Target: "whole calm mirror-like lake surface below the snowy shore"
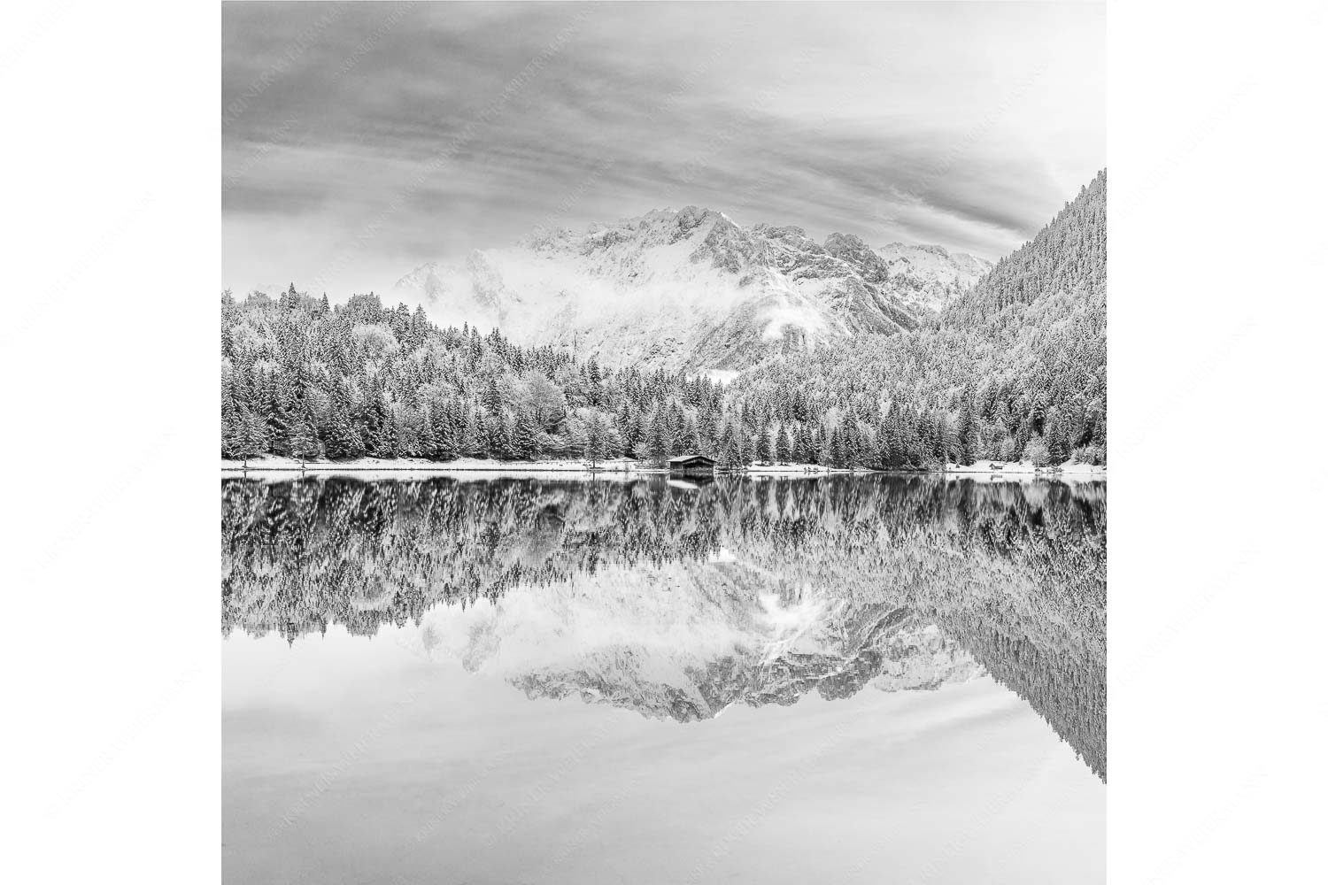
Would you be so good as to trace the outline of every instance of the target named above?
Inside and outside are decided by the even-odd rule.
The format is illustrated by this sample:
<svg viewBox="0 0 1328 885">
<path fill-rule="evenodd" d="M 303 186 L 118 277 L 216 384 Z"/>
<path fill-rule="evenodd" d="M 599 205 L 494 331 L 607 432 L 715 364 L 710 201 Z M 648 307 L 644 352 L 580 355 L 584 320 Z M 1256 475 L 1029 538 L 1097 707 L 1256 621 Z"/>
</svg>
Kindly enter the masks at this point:
<svg viewBox="0 0 1328 885">
<path fill-rule="evenodd" d="M 1106 486 L 222 482 L 227 882 L 1105 880 Z"/>
</svg>

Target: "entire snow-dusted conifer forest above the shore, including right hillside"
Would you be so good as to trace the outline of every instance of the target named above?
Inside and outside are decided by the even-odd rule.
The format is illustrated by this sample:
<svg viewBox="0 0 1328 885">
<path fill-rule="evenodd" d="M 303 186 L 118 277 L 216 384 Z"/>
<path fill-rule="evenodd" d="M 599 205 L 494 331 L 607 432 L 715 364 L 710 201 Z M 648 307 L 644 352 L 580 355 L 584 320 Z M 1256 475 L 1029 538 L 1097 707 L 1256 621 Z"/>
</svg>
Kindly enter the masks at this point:
<svg viewBox="0 0 1328 885">
<path fill-rule="evenodd" d="M 1106 458 L 1106 172 L 919 329 L 729 383 L 600 366 L 372 293 L 222 295 L 222 456 L 928 468 Z"/>
</svg>

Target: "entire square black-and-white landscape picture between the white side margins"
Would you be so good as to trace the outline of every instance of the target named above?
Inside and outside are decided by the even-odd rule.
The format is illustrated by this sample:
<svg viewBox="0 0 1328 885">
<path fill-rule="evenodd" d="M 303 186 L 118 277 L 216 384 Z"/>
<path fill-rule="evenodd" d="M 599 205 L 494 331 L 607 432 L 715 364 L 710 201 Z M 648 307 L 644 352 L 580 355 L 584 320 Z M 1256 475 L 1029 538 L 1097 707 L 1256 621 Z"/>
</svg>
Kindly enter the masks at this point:
<svg viewBox="0 0 1328 885">
<path fill-rule="evenodd" d="M 1100 5 L 222 25 L 223 881 L 1104 881 Z"/>
</svg>

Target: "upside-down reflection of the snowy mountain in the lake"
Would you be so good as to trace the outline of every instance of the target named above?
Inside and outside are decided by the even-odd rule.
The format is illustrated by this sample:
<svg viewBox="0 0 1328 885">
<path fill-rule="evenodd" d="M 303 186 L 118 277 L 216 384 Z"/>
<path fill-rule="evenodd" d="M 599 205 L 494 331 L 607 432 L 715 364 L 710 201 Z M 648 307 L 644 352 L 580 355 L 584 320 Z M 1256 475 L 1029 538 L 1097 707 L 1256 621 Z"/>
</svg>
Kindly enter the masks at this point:
<svg viewBox="0 0 1328 885">
<path fill-rule="evenodd" d="M 817 691 L 931 690 L 985 671 L 935 625 L 884 602 L 772 588 L 742 561 L 611 565 L 430 612 L 421 642 L 531 698 L 580 697 L 680 722 Z"/>
</svg>

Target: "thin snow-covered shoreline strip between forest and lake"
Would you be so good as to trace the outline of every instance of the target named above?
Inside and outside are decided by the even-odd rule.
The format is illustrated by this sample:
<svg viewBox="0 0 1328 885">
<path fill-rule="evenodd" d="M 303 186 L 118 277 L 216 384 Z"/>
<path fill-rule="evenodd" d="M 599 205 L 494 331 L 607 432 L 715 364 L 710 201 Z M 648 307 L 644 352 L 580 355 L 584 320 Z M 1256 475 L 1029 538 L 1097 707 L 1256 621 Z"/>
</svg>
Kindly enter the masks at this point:
<svg viewBox="0 0 1328 885">
<path fill-rule="evenodd" d="M 345 462 L 305 462 L 295 458 L 268 456 L 250 459 L 247 466 L 239 460 L 222 459 L 223 474 L 505 474 L 518 476 L 539 476 L 550 474 L 576 474 L 600 479 L 628 479 L 636 476 L 668 476 L 663 467 L 622 467 L 610 464 L 591 468 L 583 460 L 511 460 L 494 462 L 478 458 L 457 460 L 424 460 L 421 458 L 356 458 Z M 829 476 L 829 475 L 872 475 L 891 476 L 954 476 L 960 479 L 1057 479 L 1062 482 L 1105 480 L 1106 467 L 1092 464 L 1062 464 L 1058 468 L 1035 467 L 1031 463 L 976 462 L 969 466 L 947 464 L 946 470 L 847 470 L 823 467 L 821 464 L 761 464 L 744 471 L 722 475 L 746 476 Z M 475 476 L 478 479 L 478 476 Z"/>
</svg>

